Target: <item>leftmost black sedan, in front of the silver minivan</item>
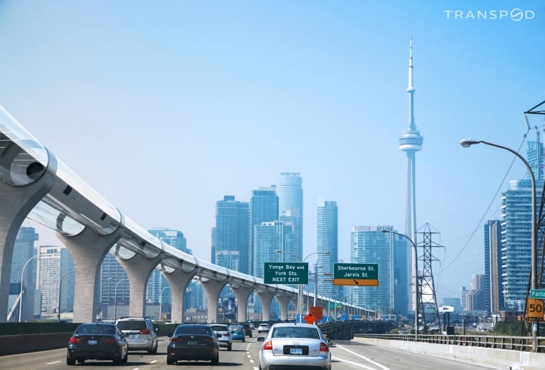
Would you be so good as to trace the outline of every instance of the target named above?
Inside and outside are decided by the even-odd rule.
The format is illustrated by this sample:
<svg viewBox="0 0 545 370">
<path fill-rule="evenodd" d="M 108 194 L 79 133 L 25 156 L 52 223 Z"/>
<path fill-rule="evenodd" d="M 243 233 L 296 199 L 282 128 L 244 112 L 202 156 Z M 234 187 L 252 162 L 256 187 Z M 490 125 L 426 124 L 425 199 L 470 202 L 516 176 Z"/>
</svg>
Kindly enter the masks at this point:
<svg viewBox="0 0 545 370">
<path fill-rule="evenodd" d="M 81 324 L 68 341 L 66 364 L 82 364 L 85 360 L 112 360 L 125 364 L 129 345 L 115 324 Z"/>
</svg>

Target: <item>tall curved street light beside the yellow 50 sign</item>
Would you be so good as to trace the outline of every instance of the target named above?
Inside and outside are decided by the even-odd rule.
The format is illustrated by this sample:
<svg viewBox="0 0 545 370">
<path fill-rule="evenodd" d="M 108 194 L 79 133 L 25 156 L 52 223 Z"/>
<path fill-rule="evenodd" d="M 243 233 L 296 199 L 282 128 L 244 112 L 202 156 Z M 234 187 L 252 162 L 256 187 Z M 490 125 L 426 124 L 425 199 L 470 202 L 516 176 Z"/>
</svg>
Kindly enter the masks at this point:
<svg viewBox="0 0 545 370">
<path fill-rule="evenodd" d="M 494 144 L 493 142 L 487 142 L 484 140 L 473 140 L 473 139 L 464 139 L 460 140 L 460 145 L 465 148 L 469 148 L 472 145 L 475 144 L 484 144 L 484 145 L 490 145 L 491 147 L 497 147 L 500 149 L 504 149 L 507 151 L 510 151 L 515 156 L 517 156 L 521 161 L 523 161 L 524 165 L 528 169 L 528 173 L 530 174 L 530 181 L 532 182 L 532 260 L 530 262 L 530 281 L 531 281 L 531 288 L 536 289 L 537 288 L 537 225 L 535 220 L 535 177 L 534 172 L 532 171 L 532 167 L 530 166 L 530 163 L 525 160 L 521 154 L 518 154 L 517 151 L 504 147 L 503 145 Z M 537 324 L 532 325 L 532 351 L 537 351 Z"/>
</svg>

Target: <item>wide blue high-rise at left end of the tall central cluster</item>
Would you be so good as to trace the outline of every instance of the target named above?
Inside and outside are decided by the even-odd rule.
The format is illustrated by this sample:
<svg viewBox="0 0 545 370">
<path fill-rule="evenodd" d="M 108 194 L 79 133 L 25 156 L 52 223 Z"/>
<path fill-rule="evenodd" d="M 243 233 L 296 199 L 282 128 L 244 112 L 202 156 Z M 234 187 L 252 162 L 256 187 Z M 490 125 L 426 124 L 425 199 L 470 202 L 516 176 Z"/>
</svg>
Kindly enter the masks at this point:
<svg viewBox="0 0 545 370">
<path fill-rule="evenodd" d="M 212 249 L 216 265 L 248 273 L 248 203 L 225 195 L 216 202 Z"/>
</svg>

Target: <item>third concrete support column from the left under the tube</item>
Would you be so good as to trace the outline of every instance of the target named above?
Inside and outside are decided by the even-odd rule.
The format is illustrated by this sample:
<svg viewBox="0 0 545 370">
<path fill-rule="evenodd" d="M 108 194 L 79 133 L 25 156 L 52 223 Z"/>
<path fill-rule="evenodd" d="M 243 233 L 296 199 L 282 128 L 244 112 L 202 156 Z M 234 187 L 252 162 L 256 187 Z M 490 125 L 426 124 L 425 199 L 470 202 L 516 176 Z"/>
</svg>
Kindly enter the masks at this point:
<svg viewBox="0 0 545 370">
<path fill-rule="evenodd" d="M 116 259 L 129 277 L 129 316 L 146 316 L 147 281 L 150 279 L 152 271 L 161 262 L 162 256 L 148 259 L 136 254 L 128 260 L 119 257 Z"/>
</svg>

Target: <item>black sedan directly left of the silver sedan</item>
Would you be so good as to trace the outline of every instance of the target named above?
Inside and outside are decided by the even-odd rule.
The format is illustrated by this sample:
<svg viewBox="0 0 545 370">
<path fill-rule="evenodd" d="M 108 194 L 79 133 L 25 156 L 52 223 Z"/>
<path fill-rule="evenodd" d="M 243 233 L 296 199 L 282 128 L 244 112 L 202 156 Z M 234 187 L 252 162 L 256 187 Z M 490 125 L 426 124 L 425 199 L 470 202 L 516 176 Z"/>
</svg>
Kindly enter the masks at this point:
<svg viewBox="0 0 545 370">
<path fill-rule="evenodd" d="M 221 334 L 217 334 L 221 336 Z M 210 361 L 219 363 L 219 342 L 210 325 L 182 324 L 176 327 L 166 347 L 166 363 L 180 360 Z"/>
</svg>

